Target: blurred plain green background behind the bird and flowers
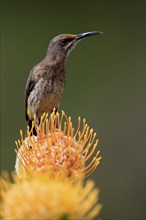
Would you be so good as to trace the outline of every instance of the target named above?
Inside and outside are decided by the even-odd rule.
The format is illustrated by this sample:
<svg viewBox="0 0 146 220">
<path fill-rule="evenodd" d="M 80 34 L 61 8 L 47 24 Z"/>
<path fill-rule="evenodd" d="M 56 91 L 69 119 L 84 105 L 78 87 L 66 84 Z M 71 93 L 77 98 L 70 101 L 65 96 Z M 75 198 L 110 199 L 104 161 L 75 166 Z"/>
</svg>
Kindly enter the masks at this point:
<svg viewBox="0 0 146 220">
<path fill-rule="evenodd" d="M 91 178 L 105 220 L 145 219 L 145 1 L 1 1 L 1 169 L 13 171 L 24 87 L 52 37 L 99 30 L 67 64 L 60 109 L 85 117 L 100 139 Z"/>
</svg>

